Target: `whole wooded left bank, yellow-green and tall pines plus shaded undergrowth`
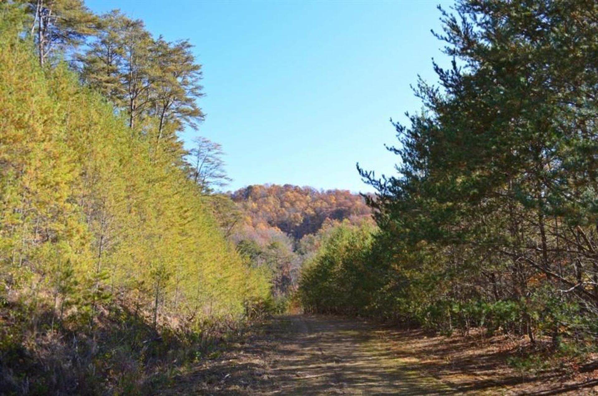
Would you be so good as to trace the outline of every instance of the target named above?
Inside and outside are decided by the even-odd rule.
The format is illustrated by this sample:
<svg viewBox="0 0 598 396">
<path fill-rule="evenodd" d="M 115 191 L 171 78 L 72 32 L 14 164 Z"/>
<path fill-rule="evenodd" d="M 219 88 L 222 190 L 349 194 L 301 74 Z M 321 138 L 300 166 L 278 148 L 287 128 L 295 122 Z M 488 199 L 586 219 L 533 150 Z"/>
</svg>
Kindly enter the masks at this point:
<svg viewBox="0 0 598 396">
<path fill-rule="evenodd" d="M 269 298 L 177 135 L 200 78 L 118 11 L 0 4 L 3 391 L 143 392 Z"/>
</svg>

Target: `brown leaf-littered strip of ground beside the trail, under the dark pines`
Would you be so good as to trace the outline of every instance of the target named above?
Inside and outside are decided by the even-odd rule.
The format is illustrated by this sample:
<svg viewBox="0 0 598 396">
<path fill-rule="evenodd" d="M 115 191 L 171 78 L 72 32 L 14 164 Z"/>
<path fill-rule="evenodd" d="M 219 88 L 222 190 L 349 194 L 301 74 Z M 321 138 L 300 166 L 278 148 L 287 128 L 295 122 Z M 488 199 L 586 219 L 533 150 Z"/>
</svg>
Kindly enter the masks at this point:
<svg viewBox="0 0 598 396">
<path fill-rule="evenodd" d="M 596 355 L 556 357 L 548 340 L 530 344 L 525 337 L 486 337 L 474 329 L 468 336 L 440 336 L 424 330 L 376 331 L 388 349 L 407 364 L 437 377 L 459 394 L 596 394 L 598 370 L 591 370 Z M 535 359 L 527 370 L 511 367 L 509 358 Z M 540 364 L 538 364 L 540 363 Z"/>
</svg>

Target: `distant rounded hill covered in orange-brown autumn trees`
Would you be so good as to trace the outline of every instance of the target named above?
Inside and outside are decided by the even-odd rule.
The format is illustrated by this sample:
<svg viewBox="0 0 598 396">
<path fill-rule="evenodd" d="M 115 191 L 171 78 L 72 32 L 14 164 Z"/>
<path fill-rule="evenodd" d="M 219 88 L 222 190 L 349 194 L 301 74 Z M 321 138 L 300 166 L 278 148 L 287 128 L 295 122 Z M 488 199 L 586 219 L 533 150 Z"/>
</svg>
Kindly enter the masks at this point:
<svg viewBox="0 0 598 396">
<path fill-rule="evenodd" d="M 240 188 L 222 205 L 220 217 L 237 251 L 254 267 L 271 274 L 274 296 L 294 291 L 303 263 L 319 249 L 321 240 L 339 224 L 373 223 L 371 209 L 360 194 L 348 190 L 266 184 Z M 216 215 L 218 217 L 218 215 Z"/>
</svg>

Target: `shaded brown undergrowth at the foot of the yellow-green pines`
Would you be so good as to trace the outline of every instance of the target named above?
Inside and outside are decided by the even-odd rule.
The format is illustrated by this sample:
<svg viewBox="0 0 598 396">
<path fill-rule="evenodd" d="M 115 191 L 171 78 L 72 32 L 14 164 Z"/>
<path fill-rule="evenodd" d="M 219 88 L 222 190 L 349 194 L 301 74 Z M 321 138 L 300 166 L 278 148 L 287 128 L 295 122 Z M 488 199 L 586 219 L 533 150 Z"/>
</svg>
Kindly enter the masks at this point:
<svg viewBox="0 0 598 396">
<path fill-rule="evenodd" d="M 103 307 L 90 325 L 77 315 L 57 321 L 50 306 L 4 300 L 0 394 L 148 394 L 186 366 L 218 357 L 228 342 L 269 314 L 266 303 L 252 305 L 244 316 L 204 319 L 190 331 L 154 328 L 124 305 Z"/>
</svg>

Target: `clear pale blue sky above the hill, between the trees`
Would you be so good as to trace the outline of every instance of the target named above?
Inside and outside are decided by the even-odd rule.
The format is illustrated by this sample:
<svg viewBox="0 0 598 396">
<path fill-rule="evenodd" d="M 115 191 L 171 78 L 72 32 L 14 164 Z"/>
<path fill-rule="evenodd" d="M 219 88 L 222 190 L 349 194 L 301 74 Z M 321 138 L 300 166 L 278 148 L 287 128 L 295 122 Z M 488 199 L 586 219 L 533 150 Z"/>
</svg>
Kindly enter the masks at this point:
<svg viewBox="0 0 598 396">
<path fill-rule="evenodd" d="M 296 184 L 371 191 L 355 163 L 391 175 L 389 123 L 421 108 L 410 84 L 447 65 L 446 1 L 86 0 L 120 8 L 154 36 L 190 39 L 203 65 L 206 120 L 181 137 L 222 144 L 236 190 Z"/>
</svg>

